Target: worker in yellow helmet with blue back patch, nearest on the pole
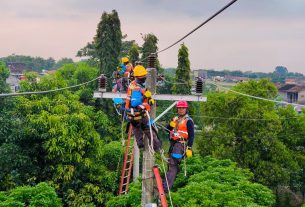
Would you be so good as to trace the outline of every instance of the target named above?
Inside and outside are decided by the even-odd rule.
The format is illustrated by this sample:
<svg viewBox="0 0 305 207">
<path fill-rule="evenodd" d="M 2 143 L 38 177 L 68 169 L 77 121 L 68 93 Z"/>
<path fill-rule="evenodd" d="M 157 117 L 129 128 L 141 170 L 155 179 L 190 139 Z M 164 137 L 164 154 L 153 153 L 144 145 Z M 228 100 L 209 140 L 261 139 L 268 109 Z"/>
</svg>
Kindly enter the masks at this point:
<svg viewBox="0 0 305 207">
<path fill-rule="evenodd" d="M 145 80 L 147 71 L 142 65 L 134 68 L 135 80 L 132 81 L 127 89 L 127 97 L 125 110 L 127 111 L 127 119 L 132 124 L 134 136 L 139 148 L 144 148 L 143 135 L 153 139 L 153 149 L 160 150 L 161 142 L 157 137 L 154 127 L 152 128 L 152 137 L 150 133 L 151 124 L 147 112 L 150 112 L 151 105 L 154 104 L 151 91 L 145 88 Z M 150 143 L 149 142 L 149 143 Z"/>
</svg>

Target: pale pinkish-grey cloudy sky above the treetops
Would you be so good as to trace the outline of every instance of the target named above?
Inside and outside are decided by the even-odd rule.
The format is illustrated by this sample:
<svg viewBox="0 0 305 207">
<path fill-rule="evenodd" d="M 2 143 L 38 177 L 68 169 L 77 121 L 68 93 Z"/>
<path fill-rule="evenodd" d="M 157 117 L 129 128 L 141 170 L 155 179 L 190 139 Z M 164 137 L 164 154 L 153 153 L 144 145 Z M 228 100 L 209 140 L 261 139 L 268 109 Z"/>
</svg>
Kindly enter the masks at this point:
<svg viewBox="0 0 305 207">
<path fill-rule="evenodd" d="M 141 46 L 153 33 L 162 50 L 230 0 L 1 0 L 0 57 L 75 55 L 91 42 L 103 12 L 117 10 L 123 34 Z M 182 42 L 181 42 L 182 43 Z M 272 72 L 285 66 L 305 74 L 305 1 L 238 0 L 183 40 L 192 69 Z M 176 67 L 180 43 L 159 54 Z"/>
</svg>

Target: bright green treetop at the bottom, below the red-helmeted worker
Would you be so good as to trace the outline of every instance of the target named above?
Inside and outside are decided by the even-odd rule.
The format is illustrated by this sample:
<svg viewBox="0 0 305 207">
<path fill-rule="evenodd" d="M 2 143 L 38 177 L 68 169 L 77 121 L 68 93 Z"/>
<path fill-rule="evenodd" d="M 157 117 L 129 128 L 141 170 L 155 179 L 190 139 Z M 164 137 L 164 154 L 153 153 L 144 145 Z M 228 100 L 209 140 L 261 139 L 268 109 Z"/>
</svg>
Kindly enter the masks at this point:
<svg viewBox="0 0 305 207">
<path fill-rule="evenodd" d="M 178 176 L 175 206 L 273 206 L 272 191 L 252 183 L 252 174 L 229 160 L 188 159 L 187 177 Z M 176 188 L 177 189 L 177 188 Z"/>
</svg>

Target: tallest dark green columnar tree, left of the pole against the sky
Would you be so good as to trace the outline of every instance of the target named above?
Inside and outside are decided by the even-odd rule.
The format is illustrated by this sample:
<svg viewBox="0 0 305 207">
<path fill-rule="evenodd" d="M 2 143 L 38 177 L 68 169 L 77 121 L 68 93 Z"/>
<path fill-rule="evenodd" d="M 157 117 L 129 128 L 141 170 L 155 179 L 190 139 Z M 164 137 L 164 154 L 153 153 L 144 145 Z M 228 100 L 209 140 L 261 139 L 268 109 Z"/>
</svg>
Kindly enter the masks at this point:
<svg viewBox="0 0 305 207">
<path fill-rule="evenodd" d="M 118 64 L 122 46 L 121 23 L 117 11 L 102 14 L 94 40 L 100 61 L 100 72 L 110 77 Z"/>
</svg>

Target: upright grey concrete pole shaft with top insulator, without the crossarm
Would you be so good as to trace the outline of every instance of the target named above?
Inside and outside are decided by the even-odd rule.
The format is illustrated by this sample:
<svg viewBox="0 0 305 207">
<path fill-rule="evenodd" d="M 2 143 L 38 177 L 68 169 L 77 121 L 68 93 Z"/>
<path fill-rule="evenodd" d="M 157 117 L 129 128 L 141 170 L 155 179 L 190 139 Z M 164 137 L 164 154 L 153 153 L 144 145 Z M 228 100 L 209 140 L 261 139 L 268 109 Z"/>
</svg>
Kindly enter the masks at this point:
<svg viewBox="0 0 305 207">
<path fill-rule="evenodd" d="M 156 92 L 156 56 L 151 54 L 148 57 L 148 76 L 145 82 L 146 88 L 148 88 L 152 94 Z M 156 105 L 151 106 L 150 117 L 154 119 L 156 117 Z M 152 137 L 151 137 L 152 139 Z M 155 158 L 149 152 L 149 139 L 144 137 L 144 152 L 143 152 L 143 171 L 142 171 L 142 206 L 152 203 L 153 201 L 153 189 L 154 189 L 154 173 L 153 166 L 155 165 Z"/>
</svg>

